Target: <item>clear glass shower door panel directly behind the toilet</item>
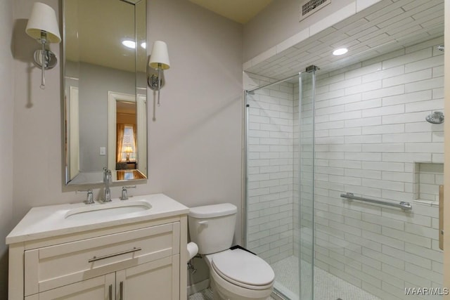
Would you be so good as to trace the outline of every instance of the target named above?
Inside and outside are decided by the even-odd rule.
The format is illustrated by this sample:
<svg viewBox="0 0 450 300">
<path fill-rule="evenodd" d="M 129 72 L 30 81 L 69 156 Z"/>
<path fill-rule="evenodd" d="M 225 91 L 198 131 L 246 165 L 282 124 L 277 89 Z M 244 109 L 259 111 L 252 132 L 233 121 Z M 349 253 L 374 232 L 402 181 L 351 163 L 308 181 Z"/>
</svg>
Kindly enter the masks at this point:
<svg viewBox="0 0 450 300">
<path fill-rule="evenodd" d="M 246 247 L 285 299 L 313 299 L 314 72 L 245 93 Z M 301 221 L 300 221 L 301 220 Z"/>
</svg>

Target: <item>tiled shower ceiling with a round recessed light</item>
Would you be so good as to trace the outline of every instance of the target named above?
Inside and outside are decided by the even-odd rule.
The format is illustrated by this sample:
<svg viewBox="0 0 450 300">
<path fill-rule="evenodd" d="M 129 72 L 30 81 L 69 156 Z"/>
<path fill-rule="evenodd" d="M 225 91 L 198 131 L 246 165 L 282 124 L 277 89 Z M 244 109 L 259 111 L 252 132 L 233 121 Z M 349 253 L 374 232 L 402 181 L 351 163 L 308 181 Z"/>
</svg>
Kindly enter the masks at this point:
<svg viewBox="0 0 450 300">
<path fill-rule="evenodd" d="M 330 72 L 444 35 L 444 0 L 383 0 L 246 72 L 284 79 L 309 65 Z M 345 56 L 333 56 L 345 46 Z"/>
</svg>

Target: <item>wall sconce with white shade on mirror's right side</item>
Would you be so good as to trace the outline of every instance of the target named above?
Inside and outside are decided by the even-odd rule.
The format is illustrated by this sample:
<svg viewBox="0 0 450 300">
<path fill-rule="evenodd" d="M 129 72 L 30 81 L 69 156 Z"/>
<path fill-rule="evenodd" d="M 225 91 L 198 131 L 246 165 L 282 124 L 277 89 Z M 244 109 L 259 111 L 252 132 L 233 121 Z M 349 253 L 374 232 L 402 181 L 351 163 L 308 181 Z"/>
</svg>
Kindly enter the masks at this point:
<svg viewBox="0 0 450 300">
<path fill-rule="evenodd" d="M 151 74 L 148 77 L 148 86 L 153 91 L 158 91 L 158 106 L 160 105 L 160 89 L 162 86 L 162 71 L 170 67 L 169 53 L 167 53 L 167 44 L 164 41 L 155 41 L 153 43 L 152 53 L 150 55 L 150 67 L 158 71 L 157 74 Z"/>
</svg>

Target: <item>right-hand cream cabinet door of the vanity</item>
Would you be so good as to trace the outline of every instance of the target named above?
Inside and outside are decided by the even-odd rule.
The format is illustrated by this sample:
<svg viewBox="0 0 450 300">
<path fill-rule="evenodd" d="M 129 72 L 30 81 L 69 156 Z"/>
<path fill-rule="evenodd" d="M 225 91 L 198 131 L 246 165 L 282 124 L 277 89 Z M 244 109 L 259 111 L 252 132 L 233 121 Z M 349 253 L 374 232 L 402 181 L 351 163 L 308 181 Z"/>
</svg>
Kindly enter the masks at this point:
<svg viewBox="0 0 450 300">
<path fill-rule="evenodd" d="M 179 300 L 179 254 L 117 271 L 116 300 Z"/>
</svg>

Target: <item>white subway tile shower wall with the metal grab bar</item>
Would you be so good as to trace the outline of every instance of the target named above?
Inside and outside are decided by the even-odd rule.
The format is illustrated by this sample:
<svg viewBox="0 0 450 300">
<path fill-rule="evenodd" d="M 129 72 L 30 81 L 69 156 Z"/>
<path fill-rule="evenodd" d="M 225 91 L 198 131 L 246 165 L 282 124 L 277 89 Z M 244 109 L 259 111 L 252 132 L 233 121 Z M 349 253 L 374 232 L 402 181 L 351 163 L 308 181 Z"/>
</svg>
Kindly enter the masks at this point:
<svg viewBox="0 0 450 300">
<path fill-rule="evenodd" d="M 442 43 L 433 39 L 316 81 L 314 263 L 381 299 L 421 299 L 405 288 L 442 287 L 436 200 L 443 124 L 425 121 L 444 109 Z M 411 202 L 413 210 L 341 193 Z"/>
</svg>

